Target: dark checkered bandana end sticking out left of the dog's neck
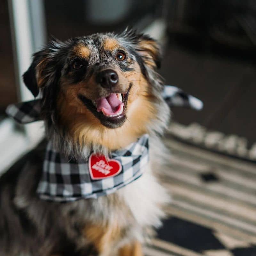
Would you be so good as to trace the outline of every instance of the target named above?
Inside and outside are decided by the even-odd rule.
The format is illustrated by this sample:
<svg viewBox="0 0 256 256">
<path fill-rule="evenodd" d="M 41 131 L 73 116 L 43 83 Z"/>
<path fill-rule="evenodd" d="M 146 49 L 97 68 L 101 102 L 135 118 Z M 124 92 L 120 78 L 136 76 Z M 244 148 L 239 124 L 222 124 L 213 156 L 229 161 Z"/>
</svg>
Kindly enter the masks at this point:
<svg viewBox="0 0 256 256">
<path fill-rule="evenodd" d="M 41 120 L 41 99 L 11 104 L 6 108 L 6 114 L 20 124 L 28 124 Z"/>
</svg>

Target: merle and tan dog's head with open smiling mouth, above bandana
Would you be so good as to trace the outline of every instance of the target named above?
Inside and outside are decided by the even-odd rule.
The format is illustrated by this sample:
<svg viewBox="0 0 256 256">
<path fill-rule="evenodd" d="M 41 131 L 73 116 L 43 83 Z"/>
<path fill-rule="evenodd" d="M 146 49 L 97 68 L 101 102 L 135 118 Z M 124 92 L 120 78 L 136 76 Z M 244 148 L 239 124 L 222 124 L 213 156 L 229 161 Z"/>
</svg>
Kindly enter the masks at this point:
<svg viewBox="0 0 256 256">
<path fill-rule="evenodd" d="M 34 55 L 23 78 L 34 96 L 42 93 L 48 131 L 82 147 L 116 149 L 162 131 L 168 108 L 159 64 L 156 41 L 125 30 L 53 40 Z"/>
</svg>

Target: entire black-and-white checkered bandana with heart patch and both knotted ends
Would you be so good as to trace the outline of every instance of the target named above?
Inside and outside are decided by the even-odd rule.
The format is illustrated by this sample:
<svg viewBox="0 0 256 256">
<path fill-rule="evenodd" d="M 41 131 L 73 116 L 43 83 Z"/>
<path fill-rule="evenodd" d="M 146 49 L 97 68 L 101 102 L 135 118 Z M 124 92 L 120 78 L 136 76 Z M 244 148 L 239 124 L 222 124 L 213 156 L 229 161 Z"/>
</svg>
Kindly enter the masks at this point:
<svg viewBox="0 0 256 256">
<path fill-rule="evenodd" d="M 171 107 L 200 110 L 201 100 L 181 89 L 166 85 L 163 98 Z M 17 122 L 27 124 L 41 120 L 41 99 L 9 105 L 6 113 Z M 148 135 L 111 156 L 91 155 L 88 161 L 64 156 L 49 141 L 43 164 L 43 175 L 37 187 L 41 199 L 57 202 L 108 195 L 138 179 L 148 163 Z"/>
</svg>

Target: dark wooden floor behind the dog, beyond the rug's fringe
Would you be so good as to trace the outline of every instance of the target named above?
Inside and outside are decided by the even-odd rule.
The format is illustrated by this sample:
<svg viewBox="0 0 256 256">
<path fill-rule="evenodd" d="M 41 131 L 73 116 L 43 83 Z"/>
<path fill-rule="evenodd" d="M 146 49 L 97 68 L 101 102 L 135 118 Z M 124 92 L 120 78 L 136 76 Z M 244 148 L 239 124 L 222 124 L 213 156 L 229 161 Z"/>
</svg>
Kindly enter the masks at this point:
<svg viewBox="0 0 256 256">
<path fill-rule="evenodd" d="M 196 48 L 169 39 L 161 74 L 166 84 L 181 87 L 204 101 L 204 109 L 173 109 L 181 124 L 197 122 L 206 128 L 256 141 L 255 56 L 204 45 Z"/>
</svg>

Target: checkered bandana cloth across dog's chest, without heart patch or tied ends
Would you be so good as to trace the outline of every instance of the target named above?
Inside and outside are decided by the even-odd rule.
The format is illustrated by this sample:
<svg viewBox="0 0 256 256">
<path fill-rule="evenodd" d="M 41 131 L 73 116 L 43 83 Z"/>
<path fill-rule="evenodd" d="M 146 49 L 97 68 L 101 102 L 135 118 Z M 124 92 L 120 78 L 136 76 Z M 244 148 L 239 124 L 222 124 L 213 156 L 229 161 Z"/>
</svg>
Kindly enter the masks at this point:
<svg viewBox="0 0 256 256">
<path fill-rule="evenodd" d="M 67 202 L 81 198 L 108 195 L 138 179 L 148 163 L 148 134 L 109 156 L 119 161 L 122 171 L 114 177 L 92 180 L 88 162 L 68 159 L 52 147 L 49 141 L 43 166 L 43 175 L 37 187 L 41 199 Z"/>
</svg>

